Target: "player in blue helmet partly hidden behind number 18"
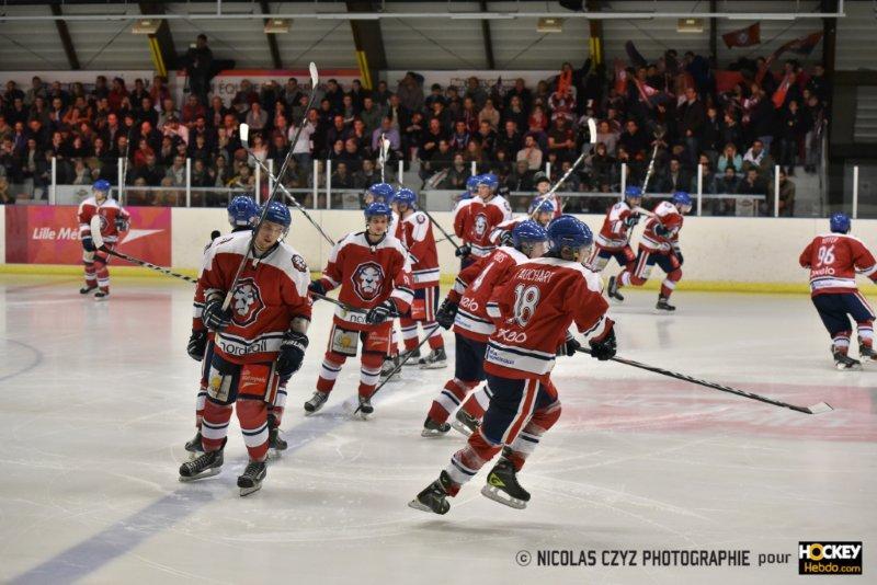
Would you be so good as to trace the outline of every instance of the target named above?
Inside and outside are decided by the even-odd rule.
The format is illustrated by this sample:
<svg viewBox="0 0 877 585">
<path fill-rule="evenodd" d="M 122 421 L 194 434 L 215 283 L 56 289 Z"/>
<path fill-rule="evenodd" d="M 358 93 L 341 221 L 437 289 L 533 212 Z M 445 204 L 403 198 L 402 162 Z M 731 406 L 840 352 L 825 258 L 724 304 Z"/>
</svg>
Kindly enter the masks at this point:
<svg viewBox="0 0 877 585">
<path fill-rule="evenodd" d="M 489 256 L 479 259 L 457 275 L 454 288 L 442 302 L 438 322 L 445 329 L 454 326 L 456 358 L 454 377 L 433 400 L 421 435 L 432 437 L 451 429 L 448 416 L 466 400 L 467 394 L 485 379 L 485 352 L 488 337 L 493 333 L 493 321 L 487 313 L 487 303 L 492 291 L 501 286 L 514 268 L 545 253 L 548 233 L 532 220 L 519 223 L 512 233 L 512 246 L 501 245 Z M 466 409 L 457 410 L 459 428 L 470 434 L 483 411 L 478 402 L 469 402 Z"/>
</svg>

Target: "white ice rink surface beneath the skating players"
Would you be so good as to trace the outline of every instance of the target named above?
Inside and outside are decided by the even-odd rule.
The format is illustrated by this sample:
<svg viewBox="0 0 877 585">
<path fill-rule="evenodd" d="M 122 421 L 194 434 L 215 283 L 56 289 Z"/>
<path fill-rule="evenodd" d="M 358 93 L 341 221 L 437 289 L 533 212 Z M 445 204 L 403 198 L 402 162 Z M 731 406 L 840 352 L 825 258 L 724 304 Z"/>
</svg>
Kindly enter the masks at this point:
<svg viewBox="0 0 877 585">
<path fill-rule="evenodd" d="M 659 316 L 654 292 L 625 289 L 618 355 L 835 411 L 808 416 L 560 358 L 560 422 L 520 474 L 529 507 L 483 497 L 485 469 L 435 516 L 407 503 L 463 445 L 455 432 L 420 437 L 451 367 L 406 368 L 360 421 L 343 405 L 358 379 L 349 362 L 327 408 L 305 418 L 330 322 L 318 302 L 288 387 L 289 450 L 242 498 L 235 417 L 223 473 L 176 479 L 198 378 L 185 354 L 190 285 L 116 278 L 109 302 L 81 298 L 72 277 L 0 285 L 3 582 L 809 583 L 799 540 L 863 540 L 864 577 L 852 582 L 877 571 L 877 364 L 835 371 L 807 296 L 680 292 L 679 311 Z M 600 560 L 616 549 L 747 549 L 753 566 L 537 566 L 540 550 Z M 759 567 L 761 553 L 791 557 Z"/>
</svg>

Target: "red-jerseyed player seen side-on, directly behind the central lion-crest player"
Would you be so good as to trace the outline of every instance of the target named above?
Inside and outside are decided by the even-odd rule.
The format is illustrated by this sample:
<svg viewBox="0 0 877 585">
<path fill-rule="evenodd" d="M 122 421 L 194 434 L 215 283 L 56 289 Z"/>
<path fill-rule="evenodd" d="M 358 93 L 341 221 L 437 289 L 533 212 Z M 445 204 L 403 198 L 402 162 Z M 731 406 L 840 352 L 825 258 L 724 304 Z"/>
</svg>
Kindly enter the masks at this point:
<svg viewBox="0 0 877 585">
<path fill-rule="evenodd" d="M 392 206 L 399 214 L 398 238 L 408 248 L 411 262 L 412 288 L 414 302 L 411 310 L 400 318 L 402 342 L 406 352 L 414 352 L 406 364 L 418 364 L 423 369 L 444 368 L 447 366 L 445 343 L 435 322 L 438 309 L 438 251 L 432 222 L 426 214 L 417 208 L 418 196 L 410 188 L 400 188 L 392 196 Z M 424 333 L 430 333 L 430 353 L 420 357 L 418 349 L 418 323 Z"/>
</svg>

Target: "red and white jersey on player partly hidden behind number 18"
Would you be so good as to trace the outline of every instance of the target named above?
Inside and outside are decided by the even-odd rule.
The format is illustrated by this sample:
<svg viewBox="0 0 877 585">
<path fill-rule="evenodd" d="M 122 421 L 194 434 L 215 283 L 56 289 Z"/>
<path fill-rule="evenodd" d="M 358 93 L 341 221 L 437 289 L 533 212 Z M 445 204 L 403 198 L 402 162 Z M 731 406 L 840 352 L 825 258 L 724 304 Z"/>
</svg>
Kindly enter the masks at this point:
<svg viewBox="0 0 877 585">
<path fill-rule="evenodd" d="M 505 283 L 515 266 L 528 261 L 525 254 L 503 245 L 460 272 L 454 288 L 447 294 L 447 298 L 459 306 L 454 319 L 454 332 L 470 340 L 487 342 L 496 329 L 487 313 L 487 303 L 493 289 Z"/>
</svg>

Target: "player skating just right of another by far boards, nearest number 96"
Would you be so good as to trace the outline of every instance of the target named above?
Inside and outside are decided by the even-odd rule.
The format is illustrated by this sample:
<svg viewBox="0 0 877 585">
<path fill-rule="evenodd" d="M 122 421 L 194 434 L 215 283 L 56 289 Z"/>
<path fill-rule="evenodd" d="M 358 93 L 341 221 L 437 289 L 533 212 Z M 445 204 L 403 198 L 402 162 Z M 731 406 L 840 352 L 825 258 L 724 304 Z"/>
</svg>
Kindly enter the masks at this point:
<svg viewBox="0 0 877 585">
<path fill-rule="evenodd" d="M 633 267 L 625 268 L 617 277 L 611 276 L 608 296 L 624 300 L 618 292 L 623 286 L 642 286 L 651 275 L 656 264 L 667 273 L 667 278 L 661 283 L 661 292 L 658 295 L 656 309 L 661 311 L 675 311 L 670 305 L 670 295 L 676 288 L 676 283 L 682 279 L 682 250 L 679 246 L 679 232 L 682 229 L 683 216 L 691 211 L 692 198 L 687 193 L 677 191 L 670 202 L 661 202 L 654 207 L 654 217 L 646 222 L 642 240 L 639 242 L 639 252 Z"/>
</svg>

